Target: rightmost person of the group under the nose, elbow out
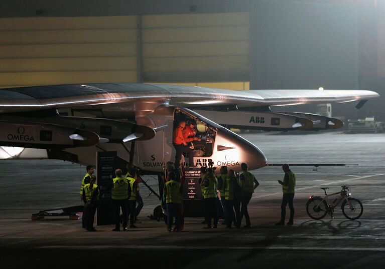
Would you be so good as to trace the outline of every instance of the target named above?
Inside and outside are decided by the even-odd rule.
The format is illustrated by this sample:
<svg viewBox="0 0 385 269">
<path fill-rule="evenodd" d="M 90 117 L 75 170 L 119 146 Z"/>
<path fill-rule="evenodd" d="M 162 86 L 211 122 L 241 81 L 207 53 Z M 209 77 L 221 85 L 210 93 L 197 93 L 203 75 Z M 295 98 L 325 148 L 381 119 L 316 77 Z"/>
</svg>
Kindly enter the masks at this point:
<svg viewBox="0 0 385 269">
<path fill-rule="evenodd" d="M 254 189 L 258 187 L 260 184 L 258 180 L 255 179 L 255 176 L 251 174 L 249 171 L 247 171 L 248 166 L 247 163 L 241 163 L 240 168 L 242 169 L 242 173 L 239 176 L 239 185 L 240 189 L 242 191 L 242 199 L 241 199 L 241 208 L 240 208 L 240 221 L 242 222 L 242 218 L 246 219 L 246 225 L 244 225 L 244 228 L 250 228 L 250 217 L 248 215 L 247 211 L 247 205 L 251 200 L 252 193 L 254 192 Z M 239 223 L 240 225 L 240 223 Z"/>
</svg>

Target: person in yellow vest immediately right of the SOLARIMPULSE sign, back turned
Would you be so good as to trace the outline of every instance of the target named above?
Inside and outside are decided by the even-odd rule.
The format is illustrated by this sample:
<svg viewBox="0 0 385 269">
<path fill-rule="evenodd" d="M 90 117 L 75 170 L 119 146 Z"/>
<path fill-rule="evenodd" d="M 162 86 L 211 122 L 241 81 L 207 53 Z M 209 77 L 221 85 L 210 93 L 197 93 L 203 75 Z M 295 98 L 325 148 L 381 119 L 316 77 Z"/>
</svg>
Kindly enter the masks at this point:
<svg viewBox="0 0 385 269">
<path fill-rule="evenodd" d="M 206 207 L 206 220 L 207 220 L 207 227 L 211 228 L 211 219 L 213 219 L 213 228 L 217 227 L 218 224 L 218 181 L 214 175 L 214 169 L 208 168 L 207 174 L 204 178 L 203 185 L 205 186 L 204 189 L 204 203 Z"/>
</svg>

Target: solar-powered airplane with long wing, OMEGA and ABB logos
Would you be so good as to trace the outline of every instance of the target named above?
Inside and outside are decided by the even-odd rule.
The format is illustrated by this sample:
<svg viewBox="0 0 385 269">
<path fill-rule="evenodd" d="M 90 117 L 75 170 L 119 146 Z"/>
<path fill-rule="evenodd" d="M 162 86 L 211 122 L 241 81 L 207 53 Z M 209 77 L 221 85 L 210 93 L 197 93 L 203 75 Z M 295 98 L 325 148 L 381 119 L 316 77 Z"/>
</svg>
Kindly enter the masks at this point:
<svg viewBox="0 0 385 269">
<path fill-rule="evenodd" d="M 194 166 L 212 161 L 239 170 L 240 163 L 247 162 L 250 169 L 258 169 L 268 164 L 264 153 L 227 128 L 336 129 L 343 125 L 338 119 L 272 112 L 270 107 L 351 101 L 360 101 L 360 107 L 378 96 L 363 90 L 230 91 L 164 84 L 8 88 L 0 90 L 0 159 L 95 165 L 97 151 L 116 151 L 145 173 L 157 174 L 175 159 L 177 122 L 192 119 L 201 138 Z"/>
</svg>

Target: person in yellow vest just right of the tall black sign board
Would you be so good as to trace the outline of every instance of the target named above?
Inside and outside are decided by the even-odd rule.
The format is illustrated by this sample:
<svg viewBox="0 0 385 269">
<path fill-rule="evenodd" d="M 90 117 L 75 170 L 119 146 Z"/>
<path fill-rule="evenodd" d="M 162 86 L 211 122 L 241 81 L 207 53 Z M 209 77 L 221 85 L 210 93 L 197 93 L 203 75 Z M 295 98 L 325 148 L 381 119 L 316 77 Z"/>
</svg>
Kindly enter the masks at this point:
<svg viewBox="0 0 385 269">
<path fill-rule="evenodd" d="M 115 170 L 115 178 L 112 179 L 113 187 L 111 189 L 112 194 L 112 207 L 115 216 L 115 228 L 113 231 L 120 230 L 120 208 L 123 214 L 123 231 L 127 230 L 128 220 L 128 199 L 131 198 L 131 185 L 129 180 L 122 176 L 121 169 Z"/>
</svg>

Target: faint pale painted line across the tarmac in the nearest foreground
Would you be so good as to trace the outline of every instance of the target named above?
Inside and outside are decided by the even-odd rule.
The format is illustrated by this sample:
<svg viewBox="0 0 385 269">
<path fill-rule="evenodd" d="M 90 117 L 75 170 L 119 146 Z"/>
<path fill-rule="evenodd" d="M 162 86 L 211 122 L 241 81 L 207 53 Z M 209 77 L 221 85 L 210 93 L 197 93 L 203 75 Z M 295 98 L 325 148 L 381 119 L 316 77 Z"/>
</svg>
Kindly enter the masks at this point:
<svg viewBox="0 0 385 269">
<path fill-rule="evenodd" d="M 164 250 L 306 250 L 306 251 L 376 251 L 385 247 L 293 247 L 293 246 L 177 246 L 177 245 L 46 245 L 33 249 L 164 249 Z"/>
</svg>

